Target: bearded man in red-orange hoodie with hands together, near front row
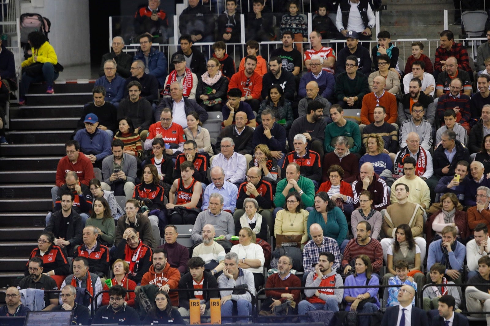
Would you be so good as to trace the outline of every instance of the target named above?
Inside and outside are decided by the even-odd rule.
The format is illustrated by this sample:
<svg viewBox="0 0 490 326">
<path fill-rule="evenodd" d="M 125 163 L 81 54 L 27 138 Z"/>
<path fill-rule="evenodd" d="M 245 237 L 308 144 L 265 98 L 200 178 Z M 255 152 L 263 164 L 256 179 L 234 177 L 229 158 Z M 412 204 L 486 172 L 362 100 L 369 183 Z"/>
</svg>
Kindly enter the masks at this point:
<svg viewBox="0 0 490 326">
<path fill-rule="evenodd" d="M 165 250 L 158 248 L 153 251 L 153 265 L 150 266 L 148 272 L 143 275 L 141 285 L 154 284 L 160 287 L 159 290 L 166 291 L 170 295 L 170 300 L 174 307 L 179 306 L 179 294 L 171 289 L 179 287 L 180 272 L 178 269 L 170 267 L 167 262 L 167 253 Z"/>
</svg>

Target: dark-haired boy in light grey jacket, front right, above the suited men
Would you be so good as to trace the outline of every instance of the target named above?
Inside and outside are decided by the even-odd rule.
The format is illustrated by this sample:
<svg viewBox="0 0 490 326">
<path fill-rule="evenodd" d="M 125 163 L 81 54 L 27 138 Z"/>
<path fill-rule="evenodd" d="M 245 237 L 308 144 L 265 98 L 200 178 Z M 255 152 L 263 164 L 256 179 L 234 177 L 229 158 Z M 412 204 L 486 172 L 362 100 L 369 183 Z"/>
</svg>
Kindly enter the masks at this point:
<svg viewBox="0 0 490 326">
<path fill-rule="evenodd" d="M 456 300 L 456 305 L 454 306 L 454 308 L 455 310 L 457 310 L 457 312 L 461 311 L 458 309 L 461 304 L 461 298 L 458 292 L 458 288 L 455 286 L 444 286 L 444 284 L 454 284 L 454 282 L 452 281 L 448 282 L 447 279 L 444 277 L 445 270 L 446 267 L 441 263 L 435 263 L 430 268 L 429 275 L 432 281 L 431 283 L 434 284 L 434 286 L 426 287 L 424 293 L 422 294 L 423 308 L 425 311 L 437 309 L 439 306 L 439 298 L 441 298 L 445 294 L 452 296 L 454 300 Z"/>
</svg>

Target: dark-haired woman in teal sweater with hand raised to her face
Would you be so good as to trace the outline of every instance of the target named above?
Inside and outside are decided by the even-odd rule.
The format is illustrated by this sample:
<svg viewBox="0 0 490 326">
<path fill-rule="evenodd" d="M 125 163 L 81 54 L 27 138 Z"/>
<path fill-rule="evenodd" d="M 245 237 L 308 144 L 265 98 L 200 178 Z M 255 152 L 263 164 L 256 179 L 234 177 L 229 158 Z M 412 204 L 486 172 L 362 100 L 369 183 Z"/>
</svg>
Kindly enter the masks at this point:
<svg viewBox="0 0 490 326">
<path fill-rule="evenodd" d="M 310 226 L 318 223 L 323 229 L 323 235 L 337 241 L 340 252 L 349 242 L 347 238 L 348 226 L 347 220 L 342 210 L 338 208 L 330 199 L 328 193 L 321 191 L 315 195 L 315 209 L 308 216 L 307 231 L 310 235 Z"/>
</svg>

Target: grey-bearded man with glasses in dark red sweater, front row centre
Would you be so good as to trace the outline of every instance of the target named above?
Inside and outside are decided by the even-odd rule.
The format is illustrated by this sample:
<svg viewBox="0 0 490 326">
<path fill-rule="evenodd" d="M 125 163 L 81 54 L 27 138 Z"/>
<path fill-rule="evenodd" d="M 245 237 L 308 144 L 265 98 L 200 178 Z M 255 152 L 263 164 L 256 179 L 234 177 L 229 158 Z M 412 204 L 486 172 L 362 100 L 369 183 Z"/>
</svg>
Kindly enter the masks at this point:
<svg viewBox="0 0 490 326">
<path fill-rule="evenodd" d="M 294 274 L 291 274 L 292 267 L 293 258 L 290 256 L 279 257 L 279 260 L 277 261 L 278 272 L 267 278 L 266 289 L 282 287 L 286 288 L 286 290 L 266 290 L 267 299 L 264 301 L 259 315 L 268 315 L 270 310 L 273 310 L 274 307 L 286 302 L 288 302 L 289 306 L 291 306 L 291 303 L 293 302 L 295 303 L 294 306 L 298 305 L 299 300 L 301 299 L 300 290 L 291 290 L 290 288 L 300 287 L 301 280 Z M 293 309 L 288 310 L 288 313 L 292 312 Z"/>
</svg>

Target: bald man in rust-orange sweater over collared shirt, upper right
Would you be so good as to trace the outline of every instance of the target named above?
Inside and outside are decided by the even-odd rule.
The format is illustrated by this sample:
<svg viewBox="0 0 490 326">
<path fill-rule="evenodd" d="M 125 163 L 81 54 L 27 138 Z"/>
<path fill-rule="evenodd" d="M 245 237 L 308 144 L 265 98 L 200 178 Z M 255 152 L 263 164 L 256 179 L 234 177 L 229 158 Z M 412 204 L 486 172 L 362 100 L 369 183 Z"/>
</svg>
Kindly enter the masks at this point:
<svg viewBox="0 0 490 326">
<path fill-rule="evenodd" d="M 398 106 L 396 97 L 392 93 L 385 91 L 386 79 L 383 76 L 374 77 L 372 81 L 372 92 L 363 97 L 363 106 L 361 107 L 361 123 L 368 125 L 374 122 L 374 108 L 384 106 L 386 108 L 385 122 L 396 125 L 398 118 Z M 398 126 L 396 125 L 396 130 Z"/>
</svg>

